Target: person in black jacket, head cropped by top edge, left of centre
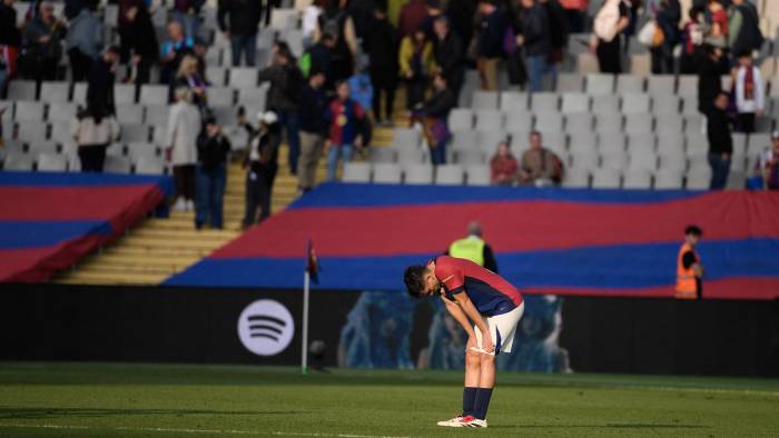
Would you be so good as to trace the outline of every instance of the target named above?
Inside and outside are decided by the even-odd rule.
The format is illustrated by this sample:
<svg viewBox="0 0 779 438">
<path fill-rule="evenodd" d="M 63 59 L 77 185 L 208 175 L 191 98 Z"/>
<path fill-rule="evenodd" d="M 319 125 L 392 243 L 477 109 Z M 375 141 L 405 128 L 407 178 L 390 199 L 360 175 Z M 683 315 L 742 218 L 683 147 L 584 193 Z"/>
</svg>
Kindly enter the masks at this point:
<svg viewBox="0 0 779 438">
<path fill-rule="evenodd" d="M 257 27 L 262 14 L 262 0 L 219 0 L 217 20 L 219 30 L 230 40 L 233 67 L 240 66 L 241 53 L 247 66 L 256 64 Z M 229 22 L 226 20 L 227 16 Z"/>
</svg>

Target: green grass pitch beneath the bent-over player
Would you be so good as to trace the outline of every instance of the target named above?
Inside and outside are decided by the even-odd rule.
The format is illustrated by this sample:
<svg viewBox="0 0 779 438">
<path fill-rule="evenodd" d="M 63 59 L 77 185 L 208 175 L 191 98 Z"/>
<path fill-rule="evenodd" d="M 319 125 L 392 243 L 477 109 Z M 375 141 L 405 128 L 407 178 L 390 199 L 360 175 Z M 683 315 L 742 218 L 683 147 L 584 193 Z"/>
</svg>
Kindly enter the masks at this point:
<svg viewBox="0 0 779 438">
<path fill-rule="evenodd" d="M 462 372 L 0 362 L 0 437 L 779 436 L 779 380 L 499 372 L 490 428 L 450 429 Z"/>
</svg>

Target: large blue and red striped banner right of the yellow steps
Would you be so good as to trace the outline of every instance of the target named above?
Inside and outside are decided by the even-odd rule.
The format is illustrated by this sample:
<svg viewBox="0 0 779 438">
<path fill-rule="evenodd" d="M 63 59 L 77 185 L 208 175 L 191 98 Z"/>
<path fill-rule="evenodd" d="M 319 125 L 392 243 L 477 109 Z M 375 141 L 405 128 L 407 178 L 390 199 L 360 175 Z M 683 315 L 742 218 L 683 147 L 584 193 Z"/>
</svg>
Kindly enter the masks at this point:
<svg viewBox="0 0 779 438">
<path fill-rule="evenodd" d="M 748 191 L 327 183 L 167 283 L 299 288 L 310 238 L 327 266 L 317 288 L 397 290 L 472 220 L 526 292 L 670 297 L 697 223 L 706 297 L 779 297 L 779 195 Z"/>
</svg>

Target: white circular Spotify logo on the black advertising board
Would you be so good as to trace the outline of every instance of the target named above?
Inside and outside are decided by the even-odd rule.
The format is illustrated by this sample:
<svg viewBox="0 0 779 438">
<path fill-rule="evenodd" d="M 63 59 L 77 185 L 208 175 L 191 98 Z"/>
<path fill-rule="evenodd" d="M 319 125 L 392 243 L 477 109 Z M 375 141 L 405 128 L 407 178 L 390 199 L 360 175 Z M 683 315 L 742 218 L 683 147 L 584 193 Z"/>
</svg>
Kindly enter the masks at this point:
<svg viewBox="0 0 779 438">
<path fill-rule="evenodd" d="M 238 337 L 255 355 L 278 355 L 289 346 L 294 335 L 292 313 L 278 301 L 257 300 L 248 305 L 238 318 Z"/>
</svg>

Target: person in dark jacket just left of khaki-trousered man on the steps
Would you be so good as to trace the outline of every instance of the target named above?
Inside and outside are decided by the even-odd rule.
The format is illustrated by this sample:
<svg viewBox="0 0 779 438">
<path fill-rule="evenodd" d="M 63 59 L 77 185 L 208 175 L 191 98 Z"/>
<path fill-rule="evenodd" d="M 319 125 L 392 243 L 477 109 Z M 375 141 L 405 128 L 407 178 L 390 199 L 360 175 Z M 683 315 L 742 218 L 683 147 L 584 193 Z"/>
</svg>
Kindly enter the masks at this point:
<svg viewBox="0 0 779 438">
<path fill-rule="evenodd" d="M 304 84 L 303 73 L 288 50 L 277 50 L 273 64 L 259 71 L 260 82 L 270 82 L 267 108 L 277 117 L 278 125 L 286 128 L 289 142 L 289 171 L 297 173 L 300 155 L 299 120 L 297 100 Z"/>
</svg>

